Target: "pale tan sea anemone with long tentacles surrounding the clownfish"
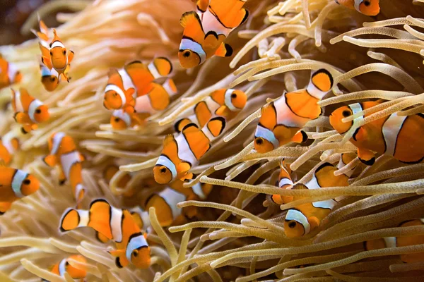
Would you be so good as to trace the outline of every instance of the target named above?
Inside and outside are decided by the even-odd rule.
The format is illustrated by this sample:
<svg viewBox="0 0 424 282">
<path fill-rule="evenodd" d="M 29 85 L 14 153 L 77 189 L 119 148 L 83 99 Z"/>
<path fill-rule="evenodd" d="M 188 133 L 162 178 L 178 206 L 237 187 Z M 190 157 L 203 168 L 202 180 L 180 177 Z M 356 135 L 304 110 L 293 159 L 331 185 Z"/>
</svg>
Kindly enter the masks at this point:
<svg viewBox="0 0 424 282">
<path fill-rule="evenodd" d="M 405 222 L 424 218 L 424 164 L 382 154 L 367 166 L 350 141 L 358 128 L 379 118 L 424 111 L 424 2 L 379 2 L 379 14 L 370 17 L 334 0 L 248 0 L 249 18 L 225 39 L 234 49 L 232 58 L 215 56 L 189 70 L 178 62 L 179 19 L 194 11 L 192 1 L 58 0 L 41 6 L 21 32 L 37 28 L 37 13 L 40 18 L 55 14 L 62 23 L 57 33 L 75 59 L 70 82 L 47 92 L 40 82 L 37 39 L 0 47 L 23 75 L 11 87 L 25 87 L 50 113 L 49 121 L 24 135 L 13 121 L 10 88 L 0 90 L 1 136 L 13 134 L 20 143 L 10 166 L 40 180 L 37 192 L 13 202 L 0 217 L 1 280 L 73 281 L 69 274 L 50 272 L 49 266 L 78 254 L 86 260 L 68 262 L 86 269 L 87 281 L 421 281 L 424 225 Z M 73 13 L 57 13 L 61 9 Z M 172 61 L 178 94 L 143 124 L 114 130 L 112 112 L 102 105 L 108 71 L 158 56 Z M 261 107 L 284 92 L 304 89 L 311 71 L 323 68 L 333 85 L 317 102 L 322 116 L 302 128 L 307 142 L 256 152 Z M 192 208 L 195 216 L 163 227 L 161 211 L 146 207 L 151 195 L 165 188 L 153 179 L 163 140 L 179 117 L 226 88 L 245 92 L 246 105 L 192 166 L 194 178 L 182 184 L 182 190 L 199 183 L 213 190 L 205 200 L 179 202 L 177 207 Z M 335 109 L 377 99 L 384 102 L 343 119 L 354 121 L 343 135 L 331 126 Z M 150 268 L 119 269 L 107 253 L 114 245 L 100 243 L 90 228 L 59 231 L 61 214 L 75 207 L 75 200 L 69 184 L 59 185 L 59 171 L 42 161 L 49 154 L 49 137 L 59 131 L 73 137 L 85 159 L 86 194 L 78 205 L 88 208 L 102 198 L 114 207 L 148 210 Z M 351 162 L 334 175 L 351 171 L 348 185 L 294 188 L 306 185 L 323 164 L 336 165 L 343 154 Z M 293 171 L 294 189 L 275 185 L 282 160 Z M 119 171 L 106 177 L 110 166 Z M 279 205 L 272 195 L 294 200 Z M 288 210 L 328 200 L 336 204 L 318 226 L 298 238 L 286 235 Z M 367 248 L 367 242 L 382 238 L 413 242 Z"/>
</svg>

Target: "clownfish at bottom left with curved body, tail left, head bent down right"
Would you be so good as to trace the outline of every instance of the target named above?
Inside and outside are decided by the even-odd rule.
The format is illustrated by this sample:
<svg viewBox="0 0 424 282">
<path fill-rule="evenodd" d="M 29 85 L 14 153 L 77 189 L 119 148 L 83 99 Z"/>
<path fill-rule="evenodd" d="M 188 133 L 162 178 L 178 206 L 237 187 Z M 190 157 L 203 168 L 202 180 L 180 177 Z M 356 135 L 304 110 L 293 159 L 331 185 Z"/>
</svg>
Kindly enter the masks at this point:
<svg viewBox="0 0 424 282">
<path fill-rule="evenodd" d="M 141 231 L 128 210 L 112 207 L 106 200 L 94 200 L 88 210 L 66 209 L 61 216 L 59 229 L 66 232 L 85 226 L 114 241 L 116 250 L 108 252 L 116 257 L 117 267 L 125 267 L 130 262 L 140 269 L 150 266 L 146 233 Z"/>
</svg>

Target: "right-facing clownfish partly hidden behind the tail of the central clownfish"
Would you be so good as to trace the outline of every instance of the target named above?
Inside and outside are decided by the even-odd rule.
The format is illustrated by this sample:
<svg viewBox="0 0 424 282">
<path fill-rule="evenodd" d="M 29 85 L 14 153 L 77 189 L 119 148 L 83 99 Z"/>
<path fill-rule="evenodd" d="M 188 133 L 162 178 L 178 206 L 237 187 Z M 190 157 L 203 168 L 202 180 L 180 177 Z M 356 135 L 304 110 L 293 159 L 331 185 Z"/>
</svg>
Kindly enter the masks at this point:
<svg viewBox="0 0 424 282">
<path fill-rule="evenodd" d="M 203 128 L 213 116 L 224 116 L 230 121 L 245 107 L 246 102 L 247 96 L 242 90 L 216 90 L 194 106 L 194 115 L 179 119 L 174 125 L 175 131 L 180 133 L 189 123 L 196 123 Z"/>
</svg>

